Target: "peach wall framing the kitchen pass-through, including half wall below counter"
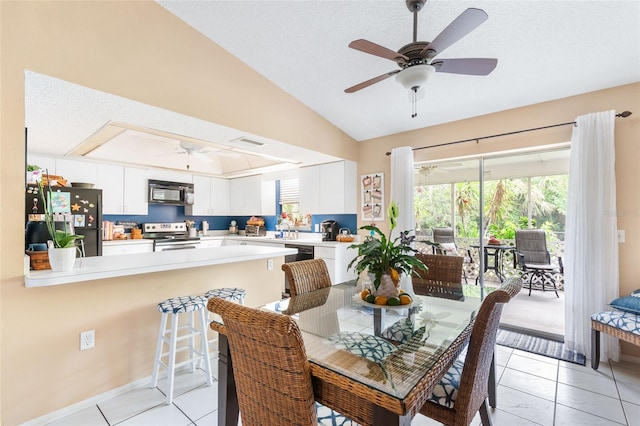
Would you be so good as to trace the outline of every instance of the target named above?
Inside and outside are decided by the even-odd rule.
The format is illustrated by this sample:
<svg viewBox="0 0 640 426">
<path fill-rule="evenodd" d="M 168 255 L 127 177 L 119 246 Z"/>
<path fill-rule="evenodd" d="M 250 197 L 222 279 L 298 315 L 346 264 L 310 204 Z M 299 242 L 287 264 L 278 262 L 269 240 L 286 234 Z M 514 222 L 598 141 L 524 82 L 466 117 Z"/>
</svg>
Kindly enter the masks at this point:
<svg viewBox="0 0 640 426">
<path fill-rule="evenodd" d="M 152 1 L 0 2 L 0 335 L 2 424 L 14 425 L 151 373 L 164 298 L 283 285 L 276 259 L 42 289 L 23 281 L 24 71 L 81 84 L 357 160 L 344 132 Z M 96 330 L 80 352 L 79 333 Z"/>
</svg>

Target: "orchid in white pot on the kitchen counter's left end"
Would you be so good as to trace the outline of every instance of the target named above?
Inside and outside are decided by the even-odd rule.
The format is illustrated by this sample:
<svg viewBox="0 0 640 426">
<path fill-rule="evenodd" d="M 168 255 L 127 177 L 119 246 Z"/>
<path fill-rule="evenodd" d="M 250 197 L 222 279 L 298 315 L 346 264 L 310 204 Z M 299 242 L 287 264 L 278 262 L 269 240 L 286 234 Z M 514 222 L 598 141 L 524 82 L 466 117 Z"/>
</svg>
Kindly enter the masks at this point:
<svg viewBox="0 0 640 426">
<path fill-rule="evenodd" d="M 76 259 L 76 240 L 81 240 L 84 235 L 76 235 L 71 231 L 71 226 L 67 221 L 63 221 L 63 229 L 56 229 L 56 221 L 51 201 L 53 200 L 53 191 L 51 185 L 47 183 L 46 189 L 42 181 L 38 182 L 40 187 L 40 197 L 44 208 L 44 220 L 47 224 L 47 230 L 51 236 L 48 241 L 49 247 L 49 264 L 53 271 L 70 271 Z M 46 190 L 46 195 L 45 195 Z M 48 195 L 48 197 L 47 197 Z"/>
</svg>

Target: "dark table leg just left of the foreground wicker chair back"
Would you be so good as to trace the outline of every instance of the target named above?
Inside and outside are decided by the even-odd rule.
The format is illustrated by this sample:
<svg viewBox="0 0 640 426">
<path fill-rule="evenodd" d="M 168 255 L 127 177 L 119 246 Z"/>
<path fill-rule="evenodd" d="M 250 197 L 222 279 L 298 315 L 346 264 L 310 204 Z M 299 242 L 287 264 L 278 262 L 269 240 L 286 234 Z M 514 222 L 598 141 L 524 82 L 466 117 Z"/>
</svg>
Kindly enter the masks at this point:
<svg viewBox="0 0 640 426">
<path fill-rule="evenodd" d="M 218 424 L 238 425 L 238 394 L 233 377 L 229 342 L 224 334 L 218 335 Z"/>
</svg>

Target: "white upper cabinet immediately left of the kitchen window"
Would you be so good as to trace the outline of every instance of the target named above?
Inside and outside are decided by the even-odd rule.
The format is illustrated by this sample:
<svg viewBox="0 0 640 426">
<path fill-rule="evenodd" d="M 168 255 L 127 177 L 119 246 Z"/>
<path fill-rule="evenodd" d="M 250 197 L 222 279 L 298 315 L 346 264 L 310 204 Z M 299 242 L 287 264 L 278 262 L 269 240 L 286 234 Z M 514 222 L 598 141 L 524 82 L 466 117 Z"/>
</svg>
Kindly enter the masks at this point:
<svg viewBox="0 0 640 426">
<path fill-rule="evenodd" d="M 229 181 L 229 214 L 238 216 L 276 214 L 276 183 L 249 176 Z"/>
</svg>

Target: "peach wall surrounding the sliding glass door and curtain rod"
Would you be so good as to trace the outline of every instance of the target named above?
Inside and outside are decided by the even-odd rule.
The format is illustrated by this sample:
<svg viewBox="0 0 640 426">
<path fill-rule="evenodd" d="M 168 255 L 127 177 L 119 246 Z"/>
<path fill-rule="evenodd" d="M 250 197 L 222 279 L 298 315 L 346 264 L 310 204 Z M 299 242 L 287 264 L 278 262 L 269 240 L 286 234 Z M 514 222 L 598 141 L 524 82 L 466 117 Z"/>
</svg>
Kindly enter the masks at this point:
<svg viewBox="0 0 640 426">
<path fill-rule="evenodd" d="M 638 253 L 640 253 L 640 83 L 620 86 L 552 102 L 512 109 L 495 114 L 447 123 L 439 126 L 395 134 L 361 142 L 358 174 L 384 172 L 385 193 L 390 191 L 390 161 L 385 153 L 394 147 L 422 147 L 474 137 L 502 134 L 521 129 L 571 122 L 579 115 L 596 111 L 633 112 L 616 119 L 616 182 L 618 229 L 626 231 L 626 242 L 619 245 L 620 294 L 638 288 Z M 557 127 L 513 136 L 468 142 L 447 147 L 415 151 L 415 161 L 448 157 L 490 154 L 509 149 L 527 148 L 571 140 L 572 126 Z M 388 202 L 388 200 L 387 200 Z M 400 206 L 402 208 L 402 206 Z M 365 223 L 359 223 L 359 226 Z M 379 224 L 388 229 L 386 224 Z M 640 348 L 623 342 L 623 354 L 639 357 Z"/>
</svg>

